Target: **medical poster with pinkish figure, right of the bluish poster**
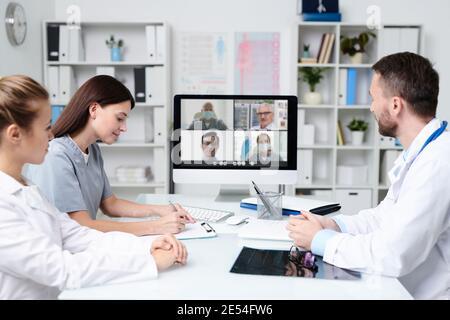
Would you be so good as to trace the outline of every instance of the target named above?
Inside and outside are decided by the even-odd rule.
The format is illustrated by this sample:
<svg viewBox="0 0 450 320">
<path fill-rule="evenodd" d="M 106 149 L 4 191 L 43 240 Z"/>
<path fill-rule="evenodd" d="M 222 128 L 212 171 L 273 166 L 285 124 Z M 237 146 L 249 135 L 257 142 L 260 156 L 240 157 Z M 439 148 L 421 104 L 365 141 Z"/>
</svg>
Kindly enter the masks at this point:
<svg viewBox="0 0 450 320">
<path fill-rule="evenodd" d="M 279 32 L 236 33 L 234 55 L 236 94 L 279 94 Z"/>
</svg>

